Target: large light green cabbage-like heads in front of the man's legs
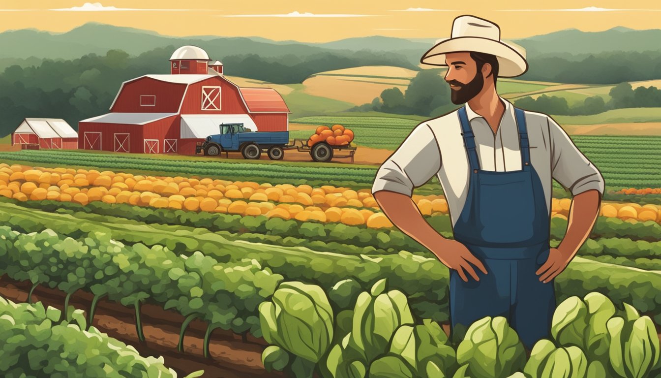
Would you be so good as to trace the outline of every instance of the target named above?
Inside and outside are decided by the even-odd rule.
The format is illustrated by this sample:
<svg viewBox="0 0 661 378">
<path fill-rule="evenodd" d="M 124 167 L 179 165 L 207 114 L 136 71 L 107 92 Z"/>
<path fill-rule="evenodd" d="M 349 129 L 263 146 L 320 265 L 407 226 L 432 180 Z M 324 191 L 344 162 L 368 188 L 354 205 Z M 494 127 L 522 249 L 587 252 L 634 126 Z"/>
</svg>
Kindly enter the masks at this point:
<svg viewBox="0 0 661 378">
<path fill-rule="evenodd" d="M 321 287 L 281 283 L 259 308 L 271 344 L 264 367 L 297 378 L 652 378 L 661 368 L 649 316 L 599 292 L 563 301 L 549 336 L 524 346 L 504 316 L 455 326 L 447 338 L 386 281 L 339 312 Z"/>
</svg>

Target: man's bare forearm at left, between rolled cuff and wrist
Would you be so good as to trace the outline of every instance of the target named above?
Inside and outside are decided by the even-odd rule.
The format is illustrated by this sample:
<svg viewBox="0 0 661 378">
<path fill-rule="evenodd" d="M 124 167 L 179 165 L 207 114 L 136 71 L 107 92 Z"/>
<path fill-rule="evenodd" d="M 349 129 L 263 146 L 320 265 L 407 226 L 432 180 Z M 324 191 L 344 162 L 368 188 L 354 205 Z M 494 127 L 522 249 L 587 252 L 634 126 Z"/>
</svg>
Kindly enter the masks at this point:
<svg viewBox="0 0 661 378">
<path fill-rule="evenodd" d="M 408 195 L 383 190 L 374 193 L 374 199 L 397 228 L 428 250 L 447 240 L 424 219 Z"/>
</svg>

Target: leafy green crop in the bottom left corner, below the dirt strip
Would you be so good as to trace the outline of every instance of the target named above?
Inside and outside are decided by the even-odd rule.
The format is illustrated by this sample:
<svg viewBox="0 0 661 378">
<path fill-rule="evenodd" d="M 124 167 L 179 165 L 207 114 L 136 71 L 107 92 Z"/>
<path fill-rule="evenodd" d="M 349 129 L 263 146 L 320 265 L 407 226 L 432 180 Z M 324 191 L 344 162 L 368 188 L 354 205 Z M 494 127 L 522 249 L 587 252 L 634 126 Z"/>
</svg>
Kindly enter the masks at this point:
<svg viewBox="0 0 661 378">
<path fill-rule="evenodd" d="M 2 231 L 0 231 L 2 232 Z M 176 377 L 163 357 L 142 357 L 132 346 L 87 328 L 83 310 L 61 311 L 42 303 L 0 297 L 0 375 L 3 377 Z M 198 377 L 203 372 L 188 377 Z"/>
</svg>

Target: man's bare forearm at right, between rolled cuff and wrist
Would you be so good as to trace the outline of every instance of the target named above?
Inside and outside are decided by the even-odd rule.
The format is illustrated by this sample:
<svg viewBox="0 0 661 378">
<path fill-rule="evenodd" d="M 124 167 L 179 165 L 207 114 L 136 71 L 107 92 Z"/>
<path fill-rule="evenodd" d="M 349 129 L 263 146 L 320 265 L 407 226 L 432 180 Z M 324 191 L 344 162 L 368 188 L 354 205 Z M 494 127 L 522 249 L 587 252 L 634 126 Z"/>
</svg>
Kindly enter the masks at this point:
<svg viewBox="0 0 661 378">
<path fill-rule="evenodd" d="M 594 223 L 599 216 L 599 208 L 602 202 L 602 195 L 599 191 L 591 189 L 584 191 L 572 200 L 572 205 L 568 216 L 567 231 L 563 241 L 558 249 L 574 256 L 578 248 L 583 245 Z"/>
</svg>

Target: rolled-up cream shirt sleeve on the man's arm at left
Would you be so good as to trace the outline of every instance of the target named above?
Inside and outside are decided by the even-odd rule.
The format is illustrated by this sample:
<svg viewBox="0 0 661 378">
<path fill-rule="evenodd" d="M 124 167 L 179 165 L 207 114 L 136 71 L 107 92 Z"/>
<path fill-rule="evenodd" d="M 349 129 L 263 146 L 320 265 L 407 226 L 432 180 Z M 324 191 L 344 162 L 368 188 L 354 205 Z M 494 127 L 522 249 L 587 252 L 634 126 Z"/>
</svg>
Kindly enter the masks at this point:
<svg viewBox="0 0 661 378">
<path fill-rule="evenodd" d="M 416 126 L 393 154 L 381 164 L 372 193 L 386 190 L 408 195 L 441 169 L 441 154 L 434 132 L 426 123 Z"/>
</svg>

